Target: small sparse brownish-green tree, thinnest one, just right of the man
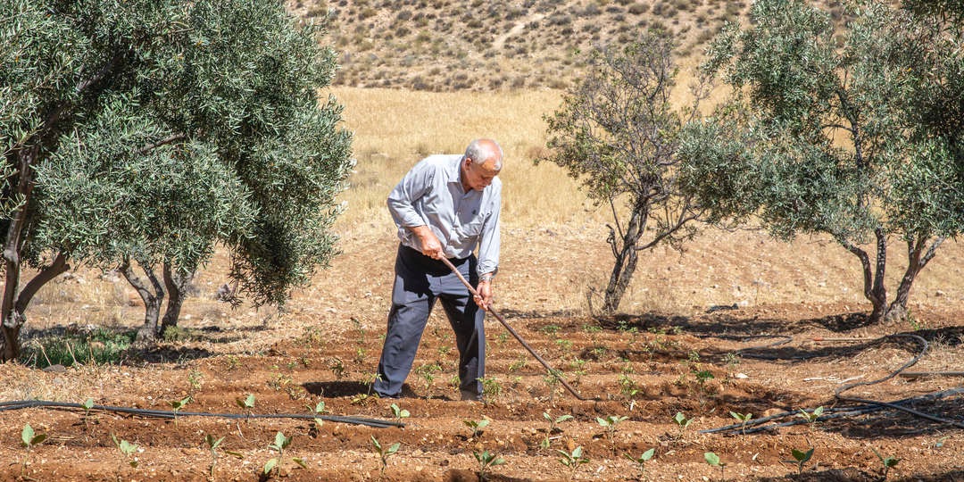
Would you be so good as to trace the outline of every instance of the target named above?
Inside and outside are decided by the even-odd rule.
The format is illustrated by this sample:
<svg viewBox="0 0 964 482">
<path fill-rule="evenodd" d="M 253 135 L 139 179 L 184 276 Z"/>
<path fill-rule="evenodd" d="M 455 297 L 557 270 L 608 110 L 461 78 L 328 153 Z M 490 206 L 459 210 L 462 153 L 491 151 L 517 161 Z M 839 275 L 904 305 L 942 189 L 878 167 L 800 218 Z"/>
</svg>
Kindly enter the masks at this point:
<svg viewBox="0 0 964 482">
<path fill-rule="evenodd" d="M 672 49 L 671 40 L 650 32 L 596 52 L 586 77 L 546 118 L 551 153 L 536 162 L 565 168 L 612 212 L 606 241 L 614 263 L 604 313 L 619 308 L 639 252 L 662 242 L 680 248 L 700 214 L 677 182 L 678 136 L 696 109 L 678 112 L 670 103 L 677 75 Z M 702 95 L 696 92 L 694 104 Z M 644 238 L 647 228 L 652 237 Z"/>
</svg>

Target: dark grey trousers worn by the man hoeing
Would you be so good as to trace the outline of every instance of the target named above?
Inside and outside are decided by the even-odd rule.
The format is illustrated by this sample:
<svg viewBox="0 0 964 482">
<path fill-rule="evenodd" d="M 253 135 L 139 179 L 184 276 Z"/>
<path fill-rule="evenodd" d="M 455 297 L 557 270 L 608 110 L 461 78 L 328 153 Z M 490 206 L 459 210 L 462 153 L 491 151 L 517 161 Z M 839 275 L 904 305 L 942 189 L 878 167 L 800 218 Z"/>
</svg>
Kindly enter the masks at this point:
<svg viewBox="0 0 964 482">
<path fill-rule="evenodd" d="M 472 286 L 478 284 L 475 255 L 450 261 Z M 436 300 L 442 302 L 455 332 L 460 389 L 463 394 L 481 395 L 479 379 L 485 376 L 485 311 L 475 305 L 469 289 L 442 261 L 399 245 L 388 331 L 382 359 L 378 362 L 379 379 L 373 387 L 379 396 L 397 397 L 401 394 L 402 383 L 412 370 L 418 342 Z"/>
</svg>

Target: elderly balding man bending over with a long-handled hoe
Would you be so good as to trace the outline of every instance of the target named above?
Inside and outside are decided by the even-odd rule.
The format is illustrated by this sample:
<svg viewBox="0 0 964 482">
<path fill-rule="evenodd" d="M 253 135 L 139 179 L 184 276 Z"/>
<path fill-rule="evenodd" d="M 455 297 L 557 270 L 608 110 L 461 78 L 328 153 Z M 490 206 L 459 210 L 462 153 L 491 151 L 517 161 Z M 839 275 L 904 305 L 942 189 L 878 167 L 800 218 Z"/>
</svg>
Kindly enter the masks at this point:
<svg viewBox="0 0 964 482">
<path fill-rule="evenodd" d="M 465 155 L 422 159 L 388 195 L 388 210 L 401 243 L 395 258 L 388 333 L 374 384 L 379 396 L 401 395 L 429 313 L 439 300 L 455 331 L 462 399 L 481 399 L 484 310 L 492 302 L 498 267 L 502 184 L 495 176 L 501 169 L 501 147 L 491 139 L 477 139 Z M 476 248 L 477 257 L 472 253 Z M 469 294 L 442 256 L 476 286 L 479 296 Z"/>
</svg>

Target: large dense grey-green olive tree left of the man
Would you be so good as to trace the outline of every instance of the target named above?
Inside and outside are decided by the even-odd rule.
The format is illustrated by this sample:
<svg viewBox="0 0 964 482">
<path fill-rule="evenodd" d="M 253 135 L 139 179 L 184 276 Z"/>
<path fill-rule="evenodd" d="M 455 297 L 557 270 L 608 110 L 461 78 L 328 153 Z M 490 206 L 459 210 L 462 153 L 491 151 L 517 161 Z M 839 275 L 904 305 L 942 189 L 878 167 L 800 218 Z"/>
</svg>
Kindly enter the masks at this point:
<svg viewBox="0 0 964 482">
<path fill-rule="evenodd" d="M 70 260 L 183 280 L 220 244 L 254 303 L 280 305 L 335 254 L 351 138 L 335 99 L 318 98 L 335 72 L 321 27 L 274 0 L 0 12 L 4 360 Z M 25 265 L 38 272 L 21 287 Z"/>
</svg>

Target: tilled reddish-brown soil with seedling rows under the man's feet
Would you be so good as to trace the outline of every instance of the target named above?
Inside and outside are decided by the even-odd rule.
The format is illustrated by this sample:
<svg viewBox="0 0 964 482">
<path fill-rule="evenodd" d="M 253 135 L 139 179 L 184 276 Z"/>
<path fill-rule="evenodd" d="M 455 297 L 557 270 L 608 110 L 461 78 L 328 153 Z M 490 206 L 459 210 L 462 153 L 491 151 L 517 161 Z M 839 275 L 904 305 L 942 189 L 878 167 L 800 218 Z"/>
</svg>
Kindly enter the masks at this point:
<svg viewBox="0 0 964 482">
<path fill-rule="evenodd" d="M 190 340 L 139 351 L 120 364 L 61 372 L 8 363 L 0 366 L 0 395 L 75 403 L 93 397 L 97 404 L 155 410 L 170 410 L 170 401 L 191 395 L 194 401 L 183 411 L 244 414 L 235 400 L 251 393 L 254 414 L 304 415 L 324 401 L 331 415 L 389 421 L 395 403 L 411 413 L 402 420 L 404 428 L 185 415 L 175 423 L 114 412 L 94 412 L 85 420 L 77 410 L 7 411 L 0 416 L 0 455 L 8 466 L 0 480 L 257 480 L 273 457 L 268 445 L 282 432 L 293 439 L 281 472 L 271 478 L 283 480 L 474 481 L 479 464 L 473 453 L 483 450 L 505 460 L 492 469 L 491 480 L 635 480 L 639 470 L 626 454 L 638 457 L 655 448 L 645 466 L 648 480 L 880 480 L 876 450 L 900 459 L 890 480 L 964 481 L 964 432 L 893 410 L 745 435 L 701 433 L 736 423 L 731 412 L 758 418 L 853 405 L 835 399 L 835 389 L 886 377 L 920 353 L 915 339 L 874 341 L 881 336 L 929 341 L 913 370 L 961 370 L 959 245 L 943 249 L 936 266 L 922 274 L 912 306 L 918 330 L 907 323 L 867 325 L 859 314 L 867 306 L 853 294 L 859 279 L 849 263 L 855 261 L 833 246 L 781 245 L 750 233 L 704 235 L 683 256 L 648 254 L 626 302 L 630 314 L 595 318 L 582 308 L 582 292 L 605 276 L 609 258 L 593 230 L 507 229 L 497 285 L 497 308 L 588 401 L 548 384 L 546 370 L 495 320 L 487 327 L 488 372 L 500 393 L 491 390 L 484 404 L 455 400 L 457 391 L 449 385 L 454 342 L 441 312 L 426 330 L 415 367 L 439 363 L 442 371 L 428 382 L 414 372 L 409 396 L 399 400 L 366 396 L 365 380 L 381 350 L 394 241 L 388 230 L 348 233 L 345 254 L 299 291 L 281 316 L 231 310 L 211 300 L 223 281 L 215 268 L 224 261 L 216 261 L 201 276 L 201 294 L 181 321 L 191 330 Z M 71 295 L 85 278 L 94 280 L 85 281 L 86 294 Z M 934 280 L 950 284 L 937 288 Z M 733 290 L 719 287 L 731 282 Z M 61 298 L 41 298 L 28 312 L 34 334 L 106 316 L 98 309 L 115 313 L 108 317 L 120 326 L 137 325 L 138 307 L 110 302 L 111 296 L 127 296 L 120 281 L 80 272 L 49 289 L 59 290 Z M 81 308 L 82 295 L 108 301 Z M 735 309 L 706 312 L 734 303 Z M 960 378 L 895 377 L 844 394 L 897 400 L 955 387 L 961 387 Z M 957 394 L 913 407 L 960 423 L 962 401 Z M 672 419 L 678 412 L 692 418 L 685 430 Z M 544 414 L 574 418 L 550 430 Z M 627 419 L 607 432 L 597 418 L 610 415 Z M 473 436 L 465 422 L 483 419 L 490 423 Z M 794 421 L 803 418 L 788 415 L 772 423 Z M 30 453 L 20 447 L 26 423 L 49 437 Z M 207 434 L 224 437 L 220 448 L 243 458 L 219 450 L 210 476 Z M 139 445 L 136 468 L 126 465 L 112 435 Z M 401 443 L 384 474 L 372 437 L 385 446 Z M 588 462 L 567 469 L 558 450 L 579 446 Z M 788 462 L 791 450 L 810 447 L 816 449 L 813 459 L 798 472 Z M 719 455 L 724 469 L 710 467 L 706 452 Z"/>
</svg>

